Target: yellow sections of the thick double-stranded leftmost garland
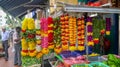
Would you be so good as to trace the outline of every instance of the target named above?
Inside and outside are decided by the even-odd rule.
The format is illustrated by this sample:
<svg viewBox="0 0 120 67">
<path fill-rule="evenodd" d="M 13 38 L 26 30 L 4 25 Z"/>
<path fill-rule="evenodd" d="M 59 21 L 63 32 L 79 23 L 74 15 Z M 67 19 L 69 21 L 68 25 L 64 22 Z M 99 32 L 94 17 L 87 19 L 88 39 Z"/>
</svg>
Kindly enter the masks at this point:
<svg viewBox="0 0 120 67">
<path fill-rule="evenodd" d="M 24 33 L 26 33 L 26 30 L 34 30 L 35 29 L 35 23 L 34 19 L 32 18 L 25 18 L 22 22 L 22 30 Z M 40 31 L 37 31 L 37 34 L 40 34 Z M 25 37 L 21 40 L 22 44 L 22 56 L 35 56 L 36 55 L 36 43 L 34 41 L 30 41 L 27 43 Z M 40 43 L 40 42 L 39 42 Z M 29 50 L 28 50 L 29 49 Z"/>
</svg>

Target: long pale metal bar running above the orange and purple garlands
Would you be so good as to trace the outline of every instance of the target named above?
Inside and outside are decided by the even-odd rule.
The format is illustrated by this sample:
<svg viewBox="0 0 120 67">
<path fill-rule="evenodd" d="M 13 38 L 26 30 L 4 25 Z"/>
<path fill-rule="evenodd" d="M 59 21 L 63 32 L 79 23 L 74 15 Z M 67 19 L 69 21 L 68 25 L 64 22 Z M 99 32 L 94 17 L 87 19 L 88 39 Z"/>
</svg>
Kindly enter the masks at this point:
<svg viewBox="0 0 120 67">
<path fill-rule="evenodd" d="M 95 13 L 120 13 L 120 9 L 101 8 L 101 7 L 83 7 L 83 6 L 65 6 L 66 12 L 95 12 Z"/>
</svg>

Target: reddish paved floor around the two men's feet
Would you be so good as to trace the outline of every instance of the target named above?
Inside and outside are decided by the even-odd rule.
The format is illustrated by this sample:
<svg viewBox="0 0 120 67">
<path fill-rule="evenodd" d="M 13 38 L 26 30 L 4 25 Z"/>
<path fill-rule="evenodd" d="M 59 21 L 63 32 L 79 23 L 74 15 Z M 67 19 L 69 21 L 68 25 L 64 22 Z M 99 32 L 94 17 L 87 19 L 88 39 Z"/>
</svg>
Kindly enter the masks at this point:
<svg viewBox="0 0 120 67">
<path fill-rule="evenodd" d="M 5 61 L 4 57 L 0 57 L 0 67 L 18 67 L 14 66 L 14 53 L 12 52 L 12 47 L 9 48 L 9 59 Z"/>
</svg>

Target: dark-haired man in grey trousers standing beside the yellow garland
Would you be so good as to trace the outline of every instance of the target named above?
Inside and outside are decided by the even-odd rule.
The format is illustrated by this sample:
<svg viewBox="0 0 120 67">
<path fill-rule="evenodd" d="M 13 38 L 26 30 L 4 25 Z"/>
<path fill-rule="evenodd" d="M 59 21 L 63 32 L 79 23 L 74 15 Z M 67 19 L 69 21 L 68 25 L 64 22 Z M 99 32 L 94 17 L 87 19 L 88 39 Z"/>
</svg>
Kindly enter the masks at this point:
<svg viewBox="0 0 120 67">
<path fill-rule="evenodd" d="M 15 32 L 13 34 L 13 43 L 14 43 L 14 49 L 15 49 L 15 55 L 14 55 L 14 65 L 21 66 L 21 28 L 16 27 Z"/>
</svg>

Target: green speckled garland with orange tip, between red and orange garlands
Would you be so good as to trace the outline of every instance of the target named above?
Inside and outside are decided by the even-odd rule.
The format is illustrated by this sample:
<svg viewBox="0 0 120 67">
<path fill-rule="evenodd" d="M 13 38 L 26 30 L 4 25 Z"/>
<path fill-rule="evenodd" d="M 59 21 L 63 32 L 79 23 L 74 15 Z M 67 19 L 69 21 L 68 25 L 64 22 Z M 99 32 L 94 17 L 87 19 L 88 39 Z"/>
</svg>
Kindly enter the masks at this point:
<svg viewBox="0 0 120 67">
<path fill-rule="evenodd" d="M 60 19 L 55 18 L 54 19 L 54 44 L 55 44 L 54 51 L 57 54 L 59 54 L 61 52 L 61 47 L 60 47 L 61 37 L 60 37 L 60 35 L 61 35 Z"/>
</svg>

